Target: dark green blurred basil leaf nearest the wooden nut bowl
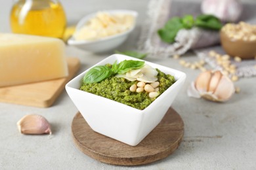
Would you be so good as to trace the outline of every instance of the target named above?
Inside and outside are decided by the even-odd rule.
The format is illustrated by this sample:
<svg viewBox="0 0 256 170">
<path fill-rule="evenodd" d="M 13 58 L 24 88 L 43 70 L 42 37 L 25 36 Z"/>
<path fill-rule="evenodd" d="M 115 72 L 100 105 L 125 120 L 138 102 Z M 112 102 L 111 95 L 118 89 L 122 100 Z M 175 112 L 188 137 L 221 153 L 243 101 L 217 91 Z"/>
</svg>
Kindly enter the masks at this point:
<svg viewBox="0 0 256 170">
<path fill-rule="evenodd" d="M 222 27 L 219 18 L 213 15 L 202 14 L 196 18 L 195 25 L 204 29 L 219 30 Z"/>
</svg>

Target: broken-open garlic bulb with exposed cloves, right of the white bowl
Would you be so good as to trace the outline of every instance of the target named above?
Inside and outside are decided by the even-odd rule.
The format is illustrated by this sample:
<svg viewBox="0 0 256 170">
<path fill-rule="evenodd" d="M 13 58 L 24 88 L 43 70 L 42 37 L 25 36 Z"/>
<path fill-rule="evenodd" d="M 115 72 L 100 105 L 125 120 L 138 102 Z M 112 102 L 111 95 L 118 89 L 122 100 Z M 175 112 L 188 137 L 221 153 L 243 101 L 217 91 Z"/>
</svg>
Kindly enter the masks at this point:
<svg viewBox="0 0 256 170">
<path fill-rule="evenodd" d="M 211 101 L 227 101 L 234 94 L 233 82 L 221 71 L 205 71 L 194 83 L 195 89 L 201 97 Z"/>
</svg>

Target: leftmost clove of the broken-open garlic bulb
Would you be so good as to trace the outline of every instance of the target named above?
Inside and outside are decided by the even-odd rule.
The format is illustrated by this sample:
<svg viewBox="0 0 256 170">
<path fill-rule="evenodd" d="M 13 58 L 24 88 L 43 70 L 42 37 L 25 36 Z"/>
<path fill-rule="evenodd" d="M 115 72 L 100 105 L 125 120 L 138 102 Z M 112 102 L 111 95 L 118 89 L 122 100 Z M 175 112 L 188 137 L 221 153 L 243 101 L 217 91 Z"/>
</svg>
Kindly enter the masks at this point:
<svg viewBox="0 0 256 170">
<path fill-rule="evenodd" d="M 211 71 L 205 71 L 200 73 L 198 78 L 196 78 L 195 86 L 198 92 L 207 92 L 209 87 L 209 82 L 211 80 Z"/>
</svg>

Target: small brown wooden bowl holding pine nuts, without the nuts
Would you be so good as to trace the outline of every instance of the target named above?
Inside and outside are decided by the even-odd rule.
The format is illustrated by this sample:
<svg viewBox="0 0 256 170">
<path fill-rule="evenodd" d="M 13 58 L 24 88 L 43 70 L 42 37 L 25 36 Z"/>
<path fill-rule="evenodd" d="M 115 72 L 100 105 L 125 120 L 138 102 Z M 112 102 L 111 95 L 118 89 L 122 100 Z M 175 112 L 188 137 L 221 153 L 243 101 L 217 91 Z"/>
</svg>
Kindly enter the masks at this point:
<svg viewBox="0 0 256 170">
<path fill-rule="evenodd" d="M 256 56 L 256 41 L 244 41 L 230 38 L 221 30 L 221 45 L 229 56 L 252 59 Z"/>
</svg>

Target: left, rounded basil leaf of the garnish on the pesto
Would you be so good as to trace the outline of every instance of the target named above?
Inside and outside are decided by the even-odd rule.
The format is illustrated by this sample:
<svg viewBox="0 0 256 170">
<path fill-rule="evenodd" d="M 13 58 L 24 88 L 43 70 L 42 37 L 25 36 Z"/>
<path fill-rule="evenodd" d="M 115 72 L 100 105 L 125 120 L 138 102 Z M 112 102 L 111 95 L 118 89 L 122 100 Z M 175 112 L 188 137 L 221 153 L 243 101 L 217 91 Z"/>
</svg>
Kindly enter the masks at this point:
<svg viewBox="0 0 256 170">
<path fill-rule="evenodd" d="M 90 69 L 85 76 L 83 76 L 83 83 L 89 84 L 93 82 L 100 82 L 112 74 L 112 70 L 106 65 L 98 65 Z"/>
</svg>

